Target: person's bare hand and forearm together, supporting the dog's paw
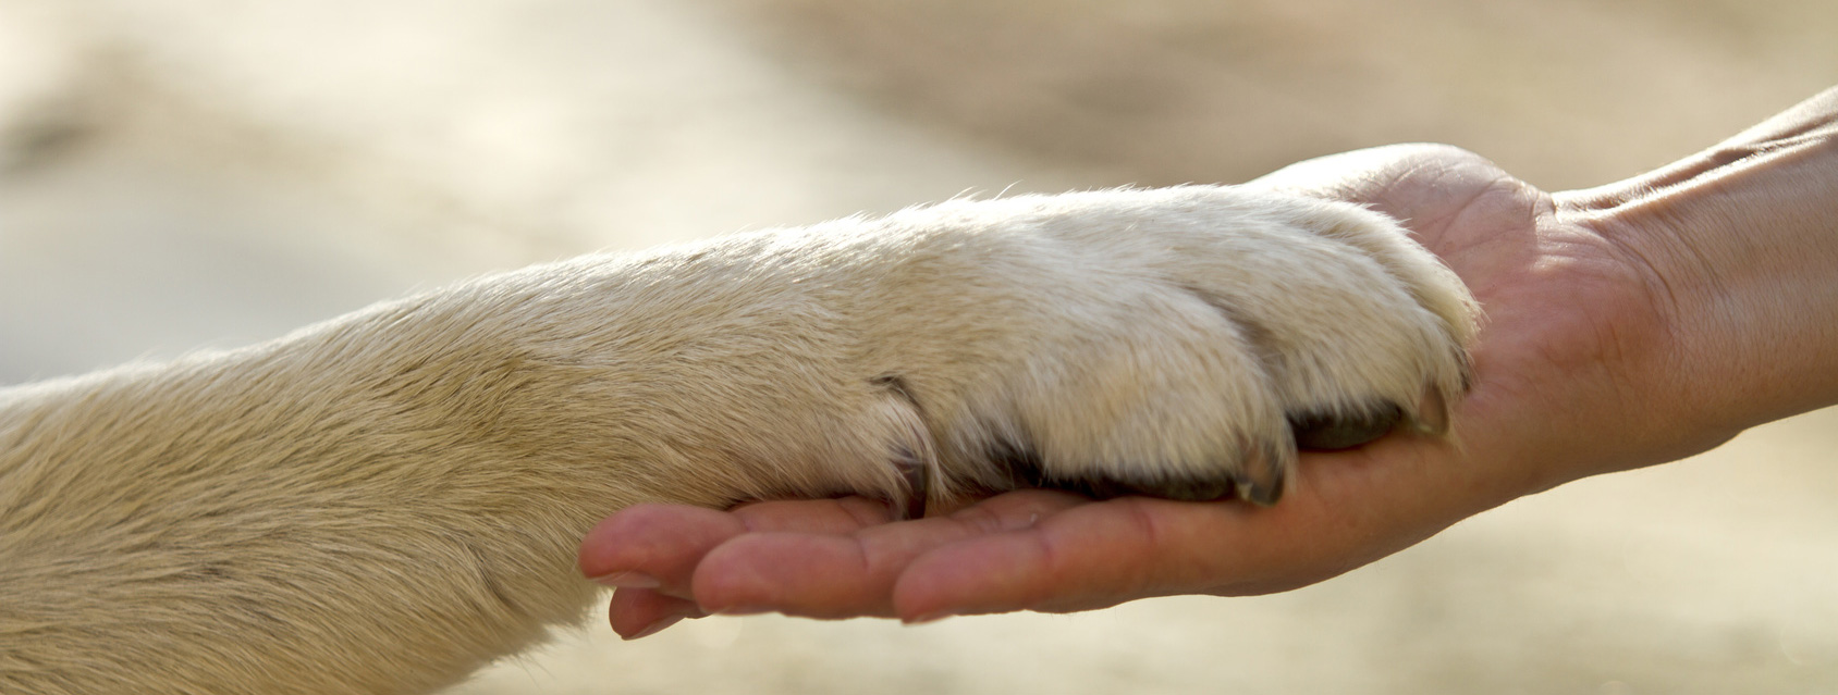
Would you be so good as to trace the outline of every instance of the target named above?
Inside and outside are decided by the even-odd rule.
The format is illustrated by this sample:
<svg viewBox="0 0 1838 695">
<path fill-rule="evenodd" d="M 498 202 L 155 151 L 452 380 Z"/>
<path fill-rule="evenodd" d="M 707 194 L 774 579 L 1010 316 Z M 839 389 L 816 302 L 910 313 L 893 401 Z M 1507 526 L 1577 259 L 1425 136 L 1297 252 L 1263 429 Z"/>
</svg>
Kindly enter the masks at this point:
<svg viewBox="0 0 1838 695">
<path fill-rule="evenodd" d="M 895 523 L 868 499 L 634 506 L 581 546 L 612 627 L 785 612 L 904 622 L 1316 583 L 1511 499 L 1838 403 L 1838 90 L 1671 167 L 1542 193 L 1399 145 L 1250 185 L 1406 220 L 1487 312 L 1452 440 L 1303 455 L 1270 508 L 1024 490 Z M 1452 444 L 1452 442 L 1459 442 Z"/>
</svg>

